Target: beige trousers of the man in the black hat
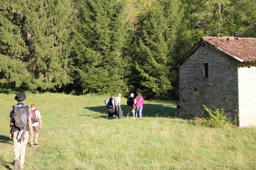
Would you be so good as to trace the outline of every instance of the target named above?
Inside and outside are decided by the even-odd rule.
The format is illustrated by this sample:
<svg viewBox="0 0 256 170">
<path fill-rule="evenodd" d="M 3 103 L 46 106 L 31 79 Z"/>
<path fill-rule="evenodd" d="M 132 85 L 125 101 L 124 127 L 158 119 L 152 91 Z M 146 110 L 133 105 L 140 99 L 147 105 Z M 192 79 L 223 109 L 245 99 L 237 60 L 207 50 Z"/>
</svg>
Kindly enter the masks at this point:
<svg viewBox="0 0 256 170">
<path fill-rule="evenodd" d="M 29 139 L 29 132 L 26 131 L 25 133 L 25 139 L 22 141 L 20 139 L 20 136 L 22 134 L 23 130 L 13 132 L 13 154 L 14 154 L 14 160 L 19 160 L 19 165 L 23 165 L 25 163 L 25 151 L 26 146 Z"/>
</svg>

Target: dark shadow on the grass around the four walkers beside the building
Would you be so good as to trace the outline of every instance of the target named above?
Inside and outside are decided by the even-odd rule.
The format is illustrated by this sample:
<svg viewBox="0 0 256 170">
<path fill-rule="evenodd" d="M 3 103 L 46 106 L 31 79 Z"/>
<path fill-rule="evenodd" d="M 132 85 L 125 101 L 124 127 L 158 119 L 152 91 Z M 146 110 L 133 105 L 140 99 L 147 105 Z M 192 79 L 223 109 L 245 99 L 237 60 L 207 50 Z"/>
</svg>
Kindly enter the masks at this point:
<svg viewBox="0 0 256 170">
<path fill-rule="evenodd" d="M 100 116 L 102 118 L 107 117 L 107 107 L 97 106 L 97 107 L 84 107 L 90 111 L 98 112 L 100 114 L 105 114 L 106 116 Z M 127 106 L 121 105 L 124 112 L 123 116 L 127 116 Z M 161 104 L 144 104 L 142 109 L 143 117 L 178 117 L 179 109 L 175 107 L 164 106 Z"/>
</svg>

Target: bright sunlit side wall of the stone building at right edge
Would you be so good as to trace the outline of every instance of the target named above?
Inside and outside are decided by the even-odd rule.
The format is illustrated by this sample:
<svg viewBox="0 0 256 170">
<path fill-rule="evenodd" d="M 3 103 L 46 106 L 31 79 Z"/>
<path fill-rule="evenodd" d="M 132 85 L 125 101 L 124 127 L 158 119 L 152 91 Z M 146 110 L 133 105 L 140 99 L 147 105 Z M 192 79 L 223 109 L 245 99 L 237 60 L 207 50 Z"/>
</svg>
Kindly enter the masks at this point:
<svg viewBox="0 0 256 170">
<path fill-rule="evenodd" d="M 238 68 L 239 125 L 256 125 L 256 67 L 241 63 Z"/>
</svg>

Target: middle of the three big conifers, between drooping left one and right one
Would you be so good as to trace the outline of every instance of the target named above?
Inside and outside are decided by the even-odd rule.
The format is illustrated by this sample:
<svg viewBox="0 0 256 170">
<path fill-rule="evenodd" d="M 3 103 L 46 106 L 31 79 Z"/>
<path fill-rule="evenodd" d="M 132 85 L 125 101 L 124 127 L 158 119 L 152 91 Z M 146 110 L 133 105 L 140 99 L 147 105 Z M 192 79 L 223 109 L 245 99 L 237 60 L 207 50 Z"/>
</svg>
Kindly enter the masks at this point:
<svg viewBox="0 0 256 170">
<path fill-rule="evenodd" d="M 94 93 L 125 91 L 125 1 L 79 0 L 72 41 L 76 74 L 74 89 Z"/>
</svg>

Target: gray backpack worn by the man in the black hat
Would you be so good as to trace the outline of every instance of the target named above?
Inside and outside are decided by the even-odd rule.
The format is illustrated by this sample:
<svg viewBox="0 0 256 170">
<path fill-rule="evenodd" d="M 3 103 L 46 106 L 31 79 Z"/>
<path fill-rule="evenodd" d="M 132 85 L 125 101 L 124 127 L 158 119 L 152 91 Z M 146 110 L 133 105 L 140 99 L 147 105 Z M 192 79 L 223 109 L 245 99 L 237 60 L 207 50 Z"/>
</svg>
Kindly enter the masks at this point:
<svg viewBox="0 0 256 170">
<path fill-rule="evenodd" d="M 29 106 L 26 104 L 19 104 L 14 105 L 13 107 L 13 126 L 20 130 L 23 130 L 23 133 L 20 138 L 24 140 L 24 135 L 28 124 Z"/>
</svg>

